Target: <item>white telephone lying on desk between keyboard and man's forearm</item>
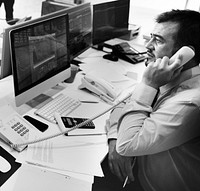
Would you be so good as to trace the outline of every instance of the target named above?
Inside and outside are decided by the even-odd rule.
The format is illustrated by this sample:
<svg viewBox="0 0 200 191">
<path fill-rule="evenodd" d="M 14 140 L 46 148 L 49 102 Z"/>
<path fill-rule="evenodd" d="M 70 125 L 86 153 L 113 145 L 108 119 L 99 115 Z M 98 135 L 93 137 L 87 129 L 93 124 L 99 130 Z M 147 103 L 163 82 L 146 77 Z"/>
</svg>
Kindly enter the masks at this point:
<svg viewBox="0 0 200 191">
<path fill-rule="evenodd" d="M 98 78 L 89 74 L 86 74 L 82 78 L 82 84 L 79 86 L 79 89 L 83 88 L 86 88 L 99 95 L 105 101 L 108 100 L 113 102 L 118 96 L 116 87 L 102 78 Z"/>
</svg>

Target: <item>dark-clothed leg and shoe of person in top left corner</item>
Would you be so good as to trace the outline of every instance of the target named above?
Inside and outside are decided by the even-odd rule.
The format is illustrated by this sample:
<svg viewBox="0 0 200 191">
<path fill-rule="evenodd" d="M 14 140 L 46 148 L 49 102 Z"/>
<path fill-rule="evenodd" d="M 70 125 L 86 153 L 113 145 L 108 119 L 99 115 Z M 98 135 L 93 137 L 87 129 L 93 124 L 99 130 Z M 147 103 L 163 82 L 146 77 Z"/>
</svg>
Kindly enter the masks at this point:
<svg viewBox="0 0 200 191">
<path fill-rule="evenodd" d="M 13 6 L 15 0 L 0 0 L 0 7 L 4 3 L 5 12 L 6 12 L 6 22 L 9 25 L 14 25 L 16 22 L 19 21 L 18 18 L 13 18 Z"/>
</svg>

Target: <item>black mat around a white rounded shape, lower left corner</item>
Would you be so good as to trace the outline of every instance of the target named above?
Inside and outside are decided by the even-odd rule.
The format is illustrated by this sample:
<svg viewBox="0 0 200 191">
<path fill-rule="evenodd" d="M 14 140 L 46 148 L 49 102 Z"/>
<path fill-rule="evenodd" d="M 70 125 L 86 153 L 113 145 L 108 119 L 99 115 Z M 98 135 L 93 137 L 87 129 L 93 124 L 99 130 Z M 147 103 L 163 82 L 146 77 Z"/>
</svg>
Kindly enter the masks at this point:
<svg viewBox="0 0 200 191">
<path fill-rule="evenodd" d="M 15 162 L 15 157 L 13 157 L 10 153 L 4 150 L 0 146 L 0 156 L 6 159 L 10 163 L 10 170 L 7 172 L 2 172 L 0 168 L 0 187 L 8 180 L 16 170 L 21 166 L 21 163 Z M 1 164 L 0 164 L 1 165 Z"/>
</svg>

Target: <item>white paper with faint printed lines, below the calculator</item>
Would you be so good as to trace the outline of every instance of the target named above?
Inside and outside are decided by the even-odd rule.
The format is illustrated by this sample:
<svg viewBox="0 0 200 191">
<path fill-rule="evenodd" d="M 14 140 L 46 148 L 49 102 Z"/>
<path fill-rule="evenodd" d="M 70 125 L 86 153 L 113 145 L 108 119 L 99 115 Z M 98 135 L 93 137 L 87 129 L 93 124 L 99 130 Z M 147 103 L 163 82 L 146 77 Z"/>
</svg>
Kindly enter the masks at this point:
<svg viewBox="0 0 200 191">
<path fill-rule="evenodd" d="M 100 166 L 108 152 L 106 135 L 54 138 L 29 145 L 26 161 L 41 167 L 103 176 Z"/>
</svg>

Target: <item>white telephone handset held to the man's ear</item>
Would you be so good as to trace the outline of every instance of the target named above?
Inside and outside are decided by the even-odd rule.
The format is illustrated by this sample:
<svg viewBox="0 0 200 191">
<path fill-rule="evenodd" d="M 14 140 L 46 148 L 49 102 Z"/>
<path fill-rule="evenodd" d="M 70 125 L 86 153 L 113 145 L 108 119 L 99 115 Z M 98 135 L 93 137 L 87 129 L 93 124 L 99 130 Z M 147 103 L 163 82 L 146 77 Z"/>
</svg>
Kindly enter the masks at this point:
<svg viewBox="0 0 200 191">
<path fill-rule="evenodd" d="M 182 67 L 184 64 L 186 64 L 189 60 L 191 60 L 194 55 L 195 55 L 195 52 L 193 50 L 193 47 L 191 46 L 183 46 L 182 48 L 180 48 L 170 59 L 169 59 L 169 63 L 172 64 L 175 59 L 178 57 L 178 56 L 182 56 L 182 59 L 181 59 L 181 65 L 180 67 Z M 179 68 L 180 68 L 179 67 Z"/>
</svg>

